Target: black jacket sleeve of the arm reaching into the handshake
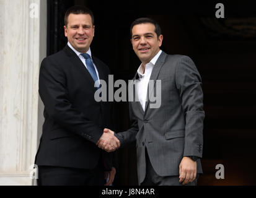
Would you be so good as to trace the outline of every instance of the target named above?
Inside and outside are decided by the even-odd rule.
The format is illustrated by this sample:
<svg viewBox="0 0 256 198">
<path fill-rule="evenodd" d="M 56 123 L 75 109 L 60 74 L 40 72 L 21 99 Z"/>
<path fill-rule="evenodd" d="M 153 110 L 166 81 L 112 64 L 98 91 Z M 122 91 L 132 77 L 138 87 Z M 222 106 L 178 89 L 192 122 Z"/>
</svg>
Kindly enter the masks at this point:
<svg viewBox="0 0 256 198">
<path fill-rule="evenodd" d="M 86 118 L 69 100 L 66 75 L 54 59 L 42 61 L 39 75 L 39 94 L 48 116 L 64 129 L 96 143 L 103 129 Z"/>
</svg>

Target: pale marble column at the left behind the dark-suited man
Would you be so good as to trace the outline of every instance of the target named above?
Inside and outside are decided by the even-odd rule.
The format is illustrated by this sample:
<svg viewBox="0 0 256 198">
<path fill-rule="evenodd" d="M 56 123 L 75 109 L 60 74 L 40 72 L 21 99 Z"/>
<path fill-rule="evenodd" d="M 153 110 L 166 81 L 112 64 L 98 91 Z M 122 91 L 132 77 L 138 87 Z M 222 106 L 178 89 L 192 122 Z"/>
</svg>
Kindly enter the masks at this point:
<svg viewBox="0 0 256 198">
<path fill-rule="evenodd" d="M 32 185 L 43 122 L 46 0 L 0 0 L 0 185 Z"/>
</svg>

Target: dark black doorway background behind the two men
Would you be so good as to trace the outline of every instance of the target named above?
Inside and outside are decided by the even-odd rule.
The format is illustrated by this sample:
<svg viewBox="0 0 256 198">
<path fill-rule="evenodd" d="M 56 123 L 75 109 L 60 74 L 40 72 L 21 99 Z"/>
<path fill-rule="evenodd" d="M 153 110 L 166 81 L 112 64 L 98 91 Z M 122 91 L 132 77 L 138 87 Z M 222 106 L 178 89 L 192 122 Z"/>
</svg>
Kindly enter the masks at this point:
<svg viewBox="0 0 256 198">
<path fill-rule="evenodd" d="M 216 19 L 216 3 L 224 19 Z M 47 55 L 60 51 L 64 13 L 74 5 L 94 12 L 92 54 L 102 59 L 115 80 L 128 81 L 139 67 L 130 43 L 130 24 L 151 17 L 162 28 L 161 49 L 185 54 L 203 80 L 203 171 L 199 185 L 255 185 L 256 7 L 252 1 L 84 1 L 48 0 Z M 128 103 L 115 104 L 115 131 L 129 127 Z M 135 145 L 117 152 L 115 185 L 136 185 Z M 215 166 L 224 165 L 224 179 Z"/>
</svg>

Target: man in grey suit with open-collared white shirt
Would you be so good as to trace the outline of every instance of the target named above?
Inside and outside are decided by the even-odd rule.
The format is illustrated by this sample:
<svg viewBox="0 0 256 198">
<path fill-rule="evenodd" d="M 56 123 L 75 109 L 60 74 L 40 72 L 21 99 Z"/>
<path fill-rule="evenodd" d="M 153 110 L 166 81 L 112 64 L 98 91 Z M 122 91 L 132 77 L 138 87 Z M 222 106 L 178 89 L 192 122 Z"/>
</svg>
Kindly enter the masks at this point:
<svg viewBox="0 0 256 198">
<path fill-rule="evenodd" d="M 205 118 L 201 77 L 188 56 L 164 53 L 162 40 L 154 20 L 141 18 L 131 24 L 131 43 L 141 60 L 135 75 L 139 101 L 130 102 L 131 128 L 115 136 L 121 147 L 136 140 L 140 185 L 196 185 L 202 173 Z M 158 108 L 147 101 L 157 89 L 154 83 L 151 90 L 149 80 L 161 80 Z M 106 140 L 97 145 L 108 152 L 117 149 Z"/>
</svg>

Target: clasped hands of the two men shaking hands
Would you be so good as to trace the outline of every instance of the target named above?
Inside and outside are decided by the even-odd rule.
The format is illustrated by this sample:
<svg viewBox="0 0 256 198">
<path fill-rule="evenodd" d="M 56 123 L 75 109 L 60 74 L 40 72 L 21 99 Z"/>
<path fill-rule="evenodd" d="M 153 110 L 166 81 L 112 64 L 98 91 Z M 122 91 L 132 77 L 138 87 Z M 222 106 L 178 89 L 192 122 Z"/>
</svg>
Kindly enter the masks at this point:
<svg viewBox="0 0 256 198">
<path fill-rule="evenodd" d="M 120 140 L 114 136 L 114 132 L 110 129 L 104 129 L 104 133 L 96 144 L 100 149 L 107 152 L 113 152 L 120 147 Z"/>
</svg>

